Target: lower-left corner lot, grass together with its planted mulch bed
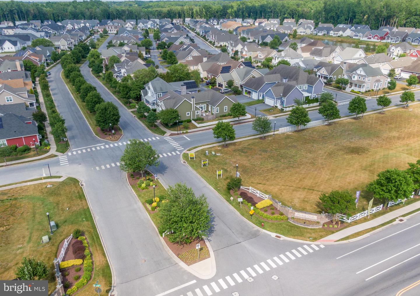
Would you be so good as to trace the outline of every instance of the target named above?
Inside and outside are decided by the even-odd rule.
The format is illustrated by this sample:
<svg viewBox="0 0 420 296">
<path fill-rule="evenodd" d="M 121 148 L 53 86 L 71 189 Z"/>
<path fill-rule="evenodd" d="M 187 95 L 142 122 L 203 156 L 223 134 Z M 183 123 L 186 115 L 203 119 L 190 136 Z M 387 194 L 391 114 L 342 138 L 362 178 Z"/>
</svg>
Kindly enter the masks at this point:
<svg viewBox="0 0 420 296">
<path fill-rule="evenodd" d="M 47 187 L 48 184 L 51 187 Z M 78 180 L 66 178 L 61 182 L 0 190 L 0 212 L 3 213 L 0 217 L 0 255 L 3 258 L 0 278 L 46 279 L 48 292 L 52 293 L 57 285 L 53 260 L 59 257 L 63 241 L 72 235 L 74 238 L 60 264 L 67 294 L 77 290 L 77 295 L 92 295 L 86 285 L 89 280 L 99 280 L 103 291 L 110 291 L 112 278 L 108 260 Z M 57 226 L 56 230 L 52 228 L 53 235 L 50 235 L 47 212 Z M 47 239 L 42 243 L 45 236 Z M 74 259 L 76 261 L 70 261 Z M 26 278 L 25 273 L 20 272 L 21 267 L 34 266 L 39 267 L 34 277 Z"/>
</svg>

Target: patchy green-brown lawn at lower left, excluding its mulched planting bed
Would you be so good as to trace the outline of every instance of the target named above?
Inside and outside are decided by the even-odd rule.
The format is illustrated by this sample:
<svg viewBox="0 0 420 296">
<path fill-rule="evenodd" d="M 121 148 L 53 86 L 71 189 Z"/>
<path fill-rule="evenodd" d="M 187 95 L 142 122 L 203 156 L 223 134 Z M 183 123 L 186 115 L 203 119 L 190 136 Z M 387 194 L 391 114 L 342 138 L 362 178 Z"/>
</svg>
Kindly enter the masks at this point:
<svg viewBox="0 0 420 296">
<path fill-rule="evenodd" d="M 58 246 L 75 228 L 80 228 L 92 249 L 95 264 L 92 282 L 99 280 L 103 290 L 109 290 L 112 283 L 110 267 L 79 181 L 67 178 L 50 184 L 53 187 L 46 188 L 45 183 L 40 183 L 0 191 L 0 278 L 15 278 L 22 257 L 35 257 L 51 269 L 48 277 L 51 293 L 56 285 L 53 259 Z M 58 226 L 53 236 L 49 235 L 46 212 L 50 212 L 51 220 Z M 49 235 L 50 241 L 41 244 L 45 235 Z M 92 291 L 89 283 L 78 295 L 92 295 Z"/>
</svg>

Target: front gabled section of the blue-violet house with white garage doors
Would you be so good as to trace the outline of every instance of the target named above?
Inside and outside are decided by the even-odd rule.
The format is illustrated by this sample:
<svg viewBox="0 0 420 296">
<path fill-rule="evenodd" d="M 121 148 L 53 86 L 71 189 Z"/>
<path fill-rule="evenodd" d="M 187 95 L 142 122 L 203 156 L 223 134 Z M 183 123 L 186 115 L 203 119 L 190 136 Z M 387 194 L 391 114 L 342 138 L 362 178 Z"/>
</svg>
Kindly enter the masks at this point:
<svg viewBox="0 0 420 296">
<path fill-rule="evenodd" d="M 264 102 L 270 106 L 291 106 L 295 99 L 303 100 L 304 93 L 294 84 L 279 81 L 264 93 Z"/>
</svg>

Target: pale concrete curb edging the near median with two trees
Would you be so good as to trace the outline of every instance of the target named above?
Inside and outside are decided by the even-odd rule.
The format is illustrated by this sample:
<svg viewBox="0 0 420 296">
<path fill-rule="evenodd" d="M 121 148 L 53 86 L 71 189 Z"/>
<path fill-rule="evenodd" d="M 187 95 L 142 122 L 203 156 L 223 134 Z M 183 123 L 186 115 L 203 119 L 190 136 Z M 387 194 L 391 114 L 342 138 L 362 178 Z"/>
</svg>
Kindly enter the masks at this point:
<svg viewBox="0 0 420 296">
<path fill-rule="evenodd" d="M 130 186 L 129 183 L 129 179 L 127 177 L 126 174 L 126 180 L 127 180 L 127 184 L 131 189 L 131 192 L 133 192 L 134 194 L 134 198 L 137 200 L 137 202 L 140 204 L 140 206 L 142 207 L 142 209 L 146 212 L 146 210 L 144 209 L 143 204 L 140 202 L 139 198 L 137 197 L 137 194 L 134 192 L 133 188 Z M 166 189 L 165 185 L 163 185 L 164 182 L 161 182 L 159 179 L 159 182 L 162 184 L 162 186 Z M 149 213 L 146 212 L 147 217 L 149 218 L 150 223 L 152 223 L 153 228 L 155 228 L 156 232 L 157 232 L 157 236 L 159 236 L 160 238 L 160 242 L 163 245 L 163 248 L 165 249 L 165 251 L 168 253 L 169 256 L 171 256 L 171 258 L 182 268 L 184 268 L 186 271 L 188 271 L 189 273 L 191 273 L 192 275 L 195 275 L 197 278 L 200 278 L 202 280 L 208 280 L 210 278 L 213 278 L 213 276 L 215 276 L 216 274 L 216 261 L 215 261 L 215 257 L 214 257 L 214 253 L 213 253 L 213 249 L 210 246 L 209 241 L 207 240 L 207 238 L 204 239 L 204 241 L 206 242 L 207 248 L 209 250 L 209 254 L 210 254 L 210 260 L 211 260 L 211 272 L 210 275 L 202 275 L 200 273 L 198 273 L 197 271 L 193 270 L 191 267 L 189 267 L 188 265 L 186 265 L 184 262 L 181 261 L 181 259 L 179 259 L 178 257 L 176 257 L 175 254 L 173 254 L 173 251 L 171 251 L 171 249 L 169 249 L 168 245 L 165 243 L 165 241 L 163 240 L 162 236 L 160 236 L 159 231 L 157 230 L 157 227 L 155 225 L 155 223 L 153 223 L 152 218 L 150 218 Z"/>
</svg>

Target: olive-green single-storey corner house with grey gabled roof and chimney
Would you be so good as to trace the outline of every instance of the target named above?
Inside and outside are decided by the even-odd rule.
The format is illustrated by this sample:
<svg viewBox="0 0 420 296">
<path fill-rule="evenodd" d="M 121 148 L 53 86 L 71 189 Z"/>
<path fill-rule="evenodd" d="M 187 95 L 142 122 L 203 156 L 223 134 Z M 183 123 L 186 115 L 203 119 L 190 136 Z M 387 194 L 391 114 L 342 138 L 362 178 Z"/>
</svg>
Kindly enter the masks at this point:
<svg viewBox="0 0 420 296">
<path fill-rule="evenodd" d="M 206 118 L 211 114 L 218 117 L 229 113 L 236 102 L 234 97 L 228 97 L 211 89 L 194 94 L 185 92 L 177 94 L 170 90 L 157 99 L 157 112 L 172 108 L 178 111 L 181 120 Z"/>
</svg>

